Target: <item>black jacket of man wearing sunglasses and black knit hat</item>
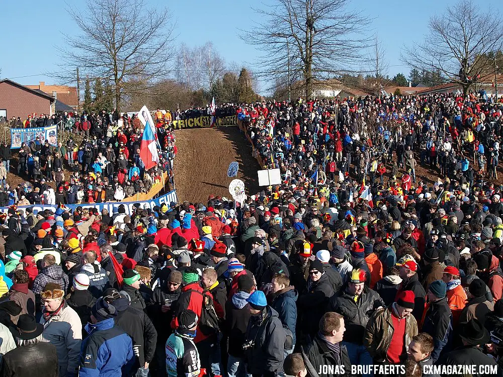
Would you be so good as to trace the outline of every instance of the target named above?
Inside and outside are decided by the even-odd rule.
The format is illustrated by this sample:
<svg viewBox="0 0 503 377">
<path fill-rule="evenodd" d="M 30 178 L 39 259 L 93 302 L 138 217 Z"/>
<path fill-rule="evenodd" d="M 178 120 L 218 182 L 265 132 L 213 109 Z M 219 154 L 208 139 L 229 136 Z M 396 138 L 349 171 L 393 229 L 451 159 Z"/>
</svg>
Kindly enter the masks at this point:
<svg viewBox="0 0 503 377">
<path fill-rule="evenodd" d="M 309 287 L 309 281 L 308 281 Z M 314 336 L 318 332 L 319 320 L 325 314 L 328 299 L 332 297 L 334 291 L 328 279 L 328 275 L 323 273 L 318 281 L 314 282 L 306 294 L 297 300 L 298 314 L 300 314 L 301 328 L 306 334 Z"/>
</svg>

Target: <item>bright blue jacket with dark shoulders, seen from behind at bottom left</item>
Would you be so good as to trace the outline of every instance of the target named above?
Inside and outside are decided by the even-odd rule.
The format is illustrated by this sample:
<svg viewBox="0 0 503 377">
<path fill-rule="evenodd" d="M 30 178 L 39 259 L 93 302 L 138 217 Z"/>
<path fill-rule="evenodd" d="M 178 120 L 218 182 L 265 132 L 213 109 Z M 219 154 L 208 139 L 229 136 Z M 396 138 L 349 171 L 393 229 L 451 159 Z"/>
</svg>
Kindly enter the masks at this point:
<svg viewBox="0 0 503 377">
<path fill-rule="evenodd" d="M 134 361 L 133 343 L 114 319 L 86 325 L 89 336 L 80 348 L 79 377 L 122 377 Z M 124 372 L 124 374 L 123 374 Z"/>
</svg>

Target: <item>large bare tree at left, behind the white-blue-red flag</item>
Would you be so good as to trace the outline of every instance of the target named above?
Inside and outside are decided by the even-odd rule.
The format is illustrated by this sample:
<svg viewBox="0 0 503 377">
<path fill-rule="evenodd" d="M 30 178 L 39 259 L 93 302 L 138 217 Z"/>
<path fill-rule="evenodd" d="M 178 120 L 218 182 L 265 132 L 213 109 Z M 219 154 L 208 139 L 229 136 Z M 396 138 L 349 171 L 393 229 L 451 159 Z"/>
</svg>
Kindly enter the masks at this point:
<svg viewBox="0 0 503 377">
<path fill-rule="evenodd" d="M 86 5 L 81 11 L 67 4 L 81 33 L 64 34 L 62 65 L 69 75 L 79 67 L 85 75 L 111 80 L 120 111 L 125 96 L 166 74 L 175 23 L 167 8 L 148 9 L 142 0 L 86 0 Z"/>
</svg>

